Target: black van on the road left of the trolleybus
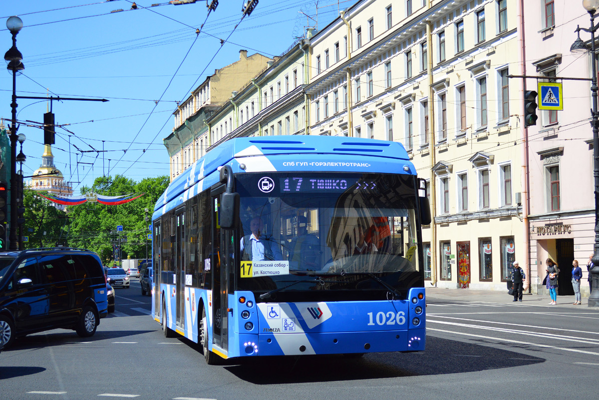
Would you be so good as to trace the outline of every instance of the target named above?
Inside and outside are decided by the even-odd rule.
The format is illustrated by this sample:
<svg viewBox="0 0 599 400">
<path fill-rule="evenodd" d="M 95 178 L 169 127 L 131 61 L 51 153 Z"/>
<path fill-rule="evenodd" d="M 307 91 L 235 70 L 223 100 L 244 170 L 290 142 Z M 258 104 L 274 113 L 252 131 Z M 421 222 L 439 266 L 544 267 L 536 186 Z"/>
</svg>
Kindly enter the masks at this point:
<svg viewBox="0 0 599 400">
<path fill-rule="evenodd" d="M 95 334 L 108 315 L 98 254 L 53 247 L 0 253 L 0 348 L 14 338 L 55 328 Z"/>
</svg>

